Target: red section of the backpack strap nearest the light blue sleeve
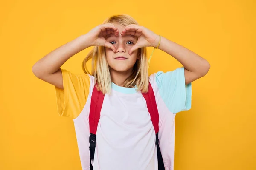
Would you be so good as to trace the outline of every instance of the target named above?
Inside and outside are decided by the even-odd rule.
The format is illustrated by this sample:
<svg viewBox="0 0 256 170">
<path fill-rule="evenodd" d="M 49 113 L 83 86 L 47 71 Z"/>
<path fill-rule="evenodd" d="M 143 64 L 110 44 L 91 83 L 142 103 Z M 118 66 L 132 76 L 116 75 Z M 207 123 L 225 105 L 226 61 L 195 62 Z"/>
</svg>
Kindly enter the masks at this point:
<svg viewBox="0 0 256 170">
<path fill-rule="evenodd" d="M 156 99 L 154 96 L 154 91 L 153 91 L 153 88 L 150 83 L 148 84 L 148 92 L 143 93 L 142 95 L 146 100 L 148 112 L 150 114 L 155 133 L 157 134 L 159 131 L 159 126 L 158 126 L 159 114 L 158 114 L 158 110 L 157 110 L 157 103 L 156 103 Z"/>
</svg>

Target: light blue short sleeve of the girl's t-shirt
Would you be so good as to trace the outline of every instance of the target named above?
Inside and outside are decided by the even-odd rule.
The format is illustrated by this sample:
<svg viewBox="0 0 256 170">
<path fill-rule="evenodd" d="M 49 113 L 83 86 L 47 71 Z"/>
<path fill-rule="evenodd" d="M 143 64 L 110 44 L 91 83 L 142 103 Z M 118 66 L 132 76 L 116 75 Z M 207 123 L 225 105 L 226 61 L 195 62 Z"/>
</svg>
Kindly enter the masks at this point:
<svg viewBox="0 0 256 170">
<path fill-rule="evenodd" d="M 192 85 L 185 85 L 184 67 L 166 73 L 157 72 L 156 82 L 170 112 L 176 114 L 191 108 Z"/>
</svg>

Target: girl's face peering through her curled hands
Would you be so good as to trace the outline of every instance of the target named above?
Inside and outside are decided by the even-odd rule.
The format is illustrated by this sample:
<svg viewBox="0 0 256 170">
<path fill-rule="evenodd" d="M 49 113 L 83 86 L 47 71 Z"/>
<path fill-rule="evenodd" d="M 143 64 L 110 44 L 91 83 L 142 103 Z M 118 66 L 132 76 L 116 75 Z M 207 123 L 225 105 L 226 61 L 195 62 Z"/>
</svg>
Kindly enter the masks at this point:
<svg viewBox="0 0 256 170">
<path fill-rule="evenodd" d="M 131 55 L 128 51 L 137 42 L 137 37 L 133 35 L 122 36 L 120 33 L 125 26 L 119 24 L 113 24 L 119 29 L 119 35 L 108 34 L 106 40 L 116 47 L 116 52 L 113 52 L 110 48 L 105 48 L 107 62 L 110 67 L 110 71 L 126 72 L 132 71 L 132 68 L 139 59 L 138 51 L 136 49 Z"/>
</svg>

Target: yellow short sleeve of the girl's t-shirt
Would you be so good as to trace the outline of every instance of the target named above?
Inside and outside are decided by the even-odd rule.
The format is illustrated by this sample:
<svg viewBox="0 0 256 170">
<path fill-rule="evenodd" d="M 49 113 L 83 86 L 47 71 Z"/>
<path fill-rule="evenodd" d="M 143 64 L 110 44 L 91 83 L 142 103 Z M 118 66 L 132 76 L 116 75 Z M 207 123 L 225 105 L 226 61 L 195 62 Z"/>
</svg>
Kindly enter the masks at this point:
<svg viewBox="0 0 256 170">
<path fill-rule="evenodd" d="M 64 89 L 55 86 L 58 114 L 76 119 L 87 101 L 90 88 L 88 74 L 78 75 L 61 69 Z"/>
</svg>

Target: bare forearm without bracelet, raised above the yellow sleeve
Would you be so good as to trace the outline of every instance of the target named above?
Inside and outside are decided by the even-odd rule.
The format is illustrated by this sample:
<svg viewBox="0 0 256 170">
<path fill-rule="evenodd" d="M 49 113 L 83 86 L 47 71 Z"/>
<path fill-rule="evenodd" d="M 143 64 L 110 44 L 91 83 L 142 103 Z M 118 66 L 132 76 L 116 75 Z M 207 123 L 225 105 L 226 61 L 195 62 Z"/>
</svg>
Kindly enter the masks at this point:
<svg viewBox="0 0 256 170">
<path fill-rule="evenodd" d="M 33 73 L 37 77 L 55 73 L 70 57 L 89 47 L 87 42 L 85 34 L 56 48 L 33 65 Z"/>
</svg>

